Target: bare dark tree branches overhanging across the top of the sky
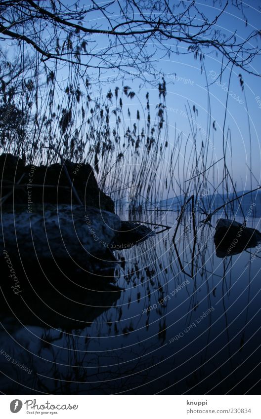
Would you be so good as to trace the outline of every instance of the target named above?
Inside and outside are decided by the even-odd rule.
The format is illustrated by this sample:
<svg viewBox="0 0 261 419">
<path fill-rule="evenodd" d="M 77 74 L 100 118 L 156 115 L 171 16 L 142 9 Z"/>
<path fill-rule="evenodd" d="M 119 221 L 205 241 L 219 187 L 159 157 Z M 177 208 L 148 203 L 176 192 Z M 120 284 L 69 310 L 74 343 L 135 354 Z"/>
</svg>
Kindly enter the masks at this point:
<svg viewBox="0 0 261 419">
<path fill-rule="evenodd" d="M 148 67 L 153 70 L 149 57 L 162 58 L 160 51 L 194 53 L 195 58 L 202 59 L 207 50 L 216 50 L 227 63 L 260 76 L 250 66 L 260 54 L 259 31 L 240 38 L 236 33 L 227 36 L 216 30 L 229 5 L 237 7 L 246 19 L 243 5 L 239 7 L 238 2 L 229 0 L 219 2 L 217 15 L 212 18 L 202 7 L 199 9 L 195 0 L 188 4 L 125 0 L 102 5 L 92 1 L 85 8 L 79 1 L 70 5 L 45 1 L 43 5 L 42 1 L 5 0 L 0 4 L 0 34 L 32 46 L 44 61 L 67 60 L 83 68 L 108 67 L 128 72 L 132 66 L 137 71 Z M 182 44 L 188 46 L 186 52 L 180 52 Z"/>
</svg>

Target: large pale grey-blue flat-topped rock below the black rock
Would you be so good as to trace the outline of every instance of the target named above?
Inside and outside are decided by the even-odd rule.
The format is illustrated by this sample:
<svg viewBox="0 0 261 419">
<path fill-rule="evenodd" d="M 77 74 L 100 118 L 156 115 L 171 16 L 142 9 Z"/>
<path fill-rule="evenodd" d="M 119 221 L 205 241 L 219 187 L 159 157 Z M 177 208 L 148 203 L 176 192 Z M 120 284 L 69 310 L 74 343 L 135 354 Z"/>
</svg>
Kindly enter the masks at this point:
<svg viewBox="0 0 261 419">
<path fill-rule="evenodd" d="M 109 246 L 120 226 L 116 214 L 81 205 L 35 204 L 32 214 L 24 205 L 14 210 L 6 206 L 0 242 L 2 249 L 22 261 L 72 259 L 87 266 L 90 259 L 113 260 Z"/>
</svg>

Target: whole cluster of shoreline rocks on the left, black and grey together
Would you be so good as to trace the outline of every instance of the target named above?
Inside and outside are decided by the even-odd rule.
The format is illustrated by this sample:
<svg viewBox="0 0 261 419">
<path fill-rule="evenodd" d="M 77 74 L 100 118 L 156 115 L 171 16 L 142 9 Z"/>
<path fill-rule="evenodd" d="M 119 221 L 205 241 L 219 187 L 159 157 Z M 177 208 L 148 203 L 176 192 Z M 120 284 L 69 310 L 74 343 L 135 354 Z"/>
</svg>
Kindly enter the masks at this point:
<svg viewBox="0 0 261 419">
<path fill-rule="evenodd" d="M 139 223 L 120 220 L 89 164 L 25 165 L 2 154 L 0 173 L 1 247 L 23 263 L 73 261 L 92 272 L 111 268 L 113 251 L 153 234 Z"/>
</svg>

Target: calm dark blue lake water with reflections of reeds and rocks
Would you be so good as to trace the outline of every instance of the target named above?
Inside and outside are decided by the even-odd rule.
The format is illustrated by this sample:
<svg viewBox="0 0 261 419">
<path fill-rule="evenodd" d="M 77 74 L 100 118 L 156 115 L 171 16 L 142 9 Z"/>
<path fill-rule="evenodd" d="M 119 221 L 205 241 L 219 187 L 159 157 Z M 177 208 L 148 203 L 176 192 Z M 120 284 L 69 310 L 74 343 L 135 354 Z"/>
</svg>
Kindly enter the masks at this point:
<svg viewBox="0 0 261 419">
<path fill-rule="evenodd" d="M 19 296 L 3 287 L 4 393 L 260 393 L 261 249 L 218 258 L 222 212 L 211 225 L 196 216 L 196 240 L 189 221 L 180 225 L 174 247 L 177 216 L 142 214 L 172 228 L 114 252 L 115 268 L 42 266 L 26 272 Z"/>
</svg>

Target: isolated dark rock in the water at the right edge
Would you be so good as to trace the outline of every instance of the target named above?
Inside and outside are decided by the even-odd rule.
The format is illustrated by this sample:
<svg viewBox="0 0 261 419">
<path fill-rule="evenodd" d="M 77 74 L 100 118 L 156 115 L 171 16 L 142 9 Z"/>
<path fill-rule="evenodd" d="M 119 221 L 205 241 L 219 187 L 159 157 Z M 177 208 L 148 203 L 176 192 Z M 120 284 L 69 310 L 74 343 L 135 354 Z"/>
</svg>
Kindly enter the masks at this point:
<svg viewBox="0 0 261 419">
<path fill-rule="evenodd" d="M 232 256 L 243 250 L 256 247 L 261 241 L 261 233 L 237 221 L 220 218 L 217 221 L 214 242 L 219 258 Z"/>
</svg>

